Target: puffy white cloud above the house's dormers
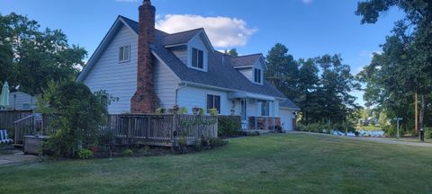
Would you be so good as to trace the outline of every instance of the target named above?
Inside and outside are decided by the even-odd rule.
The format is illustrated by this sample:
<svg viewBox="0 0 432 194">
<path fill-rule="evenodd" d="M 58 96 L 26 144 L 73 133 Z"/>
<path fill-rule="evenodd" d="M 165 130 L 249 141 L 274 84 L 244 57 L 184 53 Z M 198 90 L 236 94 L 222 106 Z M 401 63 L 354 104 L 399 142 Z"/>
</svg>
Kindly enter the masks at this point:
<svg viewBox="0 0 432 194">
<path fill-rule="evenodd" d="M 247 40 L 257 32 L 256 28 L 247 27 L 247 22 L 241 19 L 192 14 L 158 16 L 156 28 L 168 33 L 204 28 L 211 44 L 217 48 L 245 46 Z"/>
</svg>

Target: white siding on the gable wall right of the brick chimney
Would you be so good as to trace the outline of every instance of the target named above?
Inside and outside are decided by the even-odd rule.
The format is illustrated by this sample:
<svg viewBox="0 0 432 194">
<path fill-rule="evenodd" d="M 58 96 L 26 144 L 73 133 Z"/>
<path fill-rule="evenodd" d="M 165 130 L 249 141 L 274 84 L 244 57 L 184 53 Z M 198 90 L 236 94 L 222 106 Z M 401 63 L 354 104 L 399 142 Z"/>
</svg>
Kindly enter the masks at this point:
<svg viewBox="0 0 432 194">
<path fill-rule="evenodd" d="M 172 109 L 175 105 L 175 89 L 178 87 L 179 80 L 168 66 L 156 62 L 155 67 L 155 92 L 159 99 L 159 107 Z"/>
</svg>

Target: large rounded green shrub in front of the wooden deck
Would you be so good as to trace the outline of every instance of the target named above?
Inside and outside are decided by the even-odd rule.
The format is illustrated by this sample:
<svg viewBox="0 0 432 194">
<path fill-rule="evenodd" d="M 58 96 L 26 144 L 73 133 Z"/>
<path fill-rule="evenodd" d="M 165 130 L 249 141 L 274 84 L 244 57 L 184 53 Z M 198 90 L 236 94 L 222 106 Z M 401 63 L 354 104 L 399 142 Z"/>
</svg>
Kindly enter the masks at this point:
<svg viewBox="0 0 432 194">
<path fill-rule="evenodd" d="M 43 145 L 46 153 L 76 157 L 80 147 L 97 142 L 98 128 L 107 114 L 108 98 L 101 101 L 101 94 L 95 95 L 85 84 L 75 82 L 50 85 L 38 103 L 42 113 L 58 115 L 58 120 L 52 123 L 58 126 L 58 131 Z"/>
</svg>

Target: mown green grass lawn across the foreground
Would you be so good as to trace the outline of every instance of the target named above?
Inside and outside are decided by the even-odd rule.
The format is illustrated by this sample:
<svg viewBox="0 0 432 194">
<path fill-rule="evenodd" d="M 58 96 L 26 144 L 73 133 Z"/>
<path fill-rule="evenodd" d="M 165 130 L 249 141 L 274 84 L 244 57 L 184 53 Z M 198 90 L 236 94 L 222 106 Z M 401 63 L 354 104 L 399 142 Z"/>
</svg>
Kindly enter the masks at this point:
<svg viewBox="0 0 432 194">
<path fill-rule="evenodd" d="M 432 193 L 432 149 L 244 137 L 196 154 L 0 167 L 1 193 Z"/>
</svg>

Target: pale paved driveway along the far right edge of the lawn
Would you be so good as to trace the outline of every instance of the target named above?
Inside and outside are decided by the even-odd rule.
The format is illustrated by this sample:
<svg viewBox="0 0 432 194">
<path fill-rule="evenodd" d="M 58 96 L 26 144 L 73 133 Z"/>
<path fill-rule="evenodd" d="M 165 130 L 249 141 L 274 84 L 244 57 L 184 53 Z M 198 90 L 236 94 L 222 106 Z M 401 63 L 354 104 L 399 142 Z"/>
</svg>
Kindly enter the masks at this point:
<svg viewBox="0 0 432 194">
<path fill-rule="evenodd" d="M 290 133 L 308 134 L 308 135 L 317 135 L 317 136 L 328 136 L 328 137 L 340 137 L 340 138 L 347 138 L 347 139 L 360 140 L 360 141 L 373 141 L 373 142 L 384 143 L 384 144 L 432 147 L 431 143 L 407 142 L 407 141 L 403 141 L 403 140 L 397 140 L 397 139 L 385 138 L 385 137 L 346 137 L 346 136 L 334 136 L 334 135 L 329 135 L 329 134 L 311 133 L 311 132 L 303 132 L 303 131 L 293 131 Z"/>
</svg>

